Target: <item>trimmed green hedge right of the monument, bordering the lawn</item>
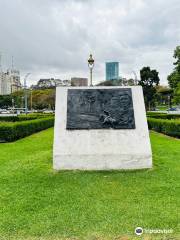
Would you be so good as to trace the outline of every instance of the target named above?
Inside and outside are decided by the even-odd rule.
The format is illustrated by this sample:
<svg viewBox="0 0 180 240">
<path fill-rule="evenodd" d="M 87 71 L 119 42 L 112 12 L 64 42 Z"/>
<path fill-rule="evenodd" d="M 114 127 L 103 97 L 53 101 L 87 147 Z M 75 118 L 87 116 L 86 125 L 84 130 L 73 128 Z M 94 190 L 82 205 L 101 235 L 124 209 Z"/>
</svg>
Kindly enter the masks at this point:
<svg viewBox="0 0 180 240">
<path fill-rule="evenodd" d="M 169 136 L 180 138 L 180 119 L 167 120 L 148 118 L 149 129 L 164 133 Z"/>
</svg>

